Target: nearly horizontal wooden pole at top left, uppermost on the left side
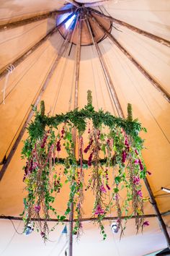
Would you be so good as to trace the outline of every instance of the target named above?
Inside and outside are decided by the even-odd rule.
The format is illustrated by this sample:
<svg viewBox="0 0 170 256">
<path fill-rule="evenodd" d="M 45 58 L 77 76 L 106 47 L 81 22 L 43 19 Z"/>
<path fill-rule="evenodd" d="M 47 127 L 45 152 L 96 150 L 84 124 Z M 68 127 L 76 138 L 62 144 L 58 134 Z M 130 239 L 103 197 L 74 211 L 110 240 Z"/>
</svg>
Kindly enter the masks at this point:
<svg viewBox="0 0 170 256">
<path fill-rule="evenodd" d="M 45 14 L 39 14 L 39 15 L 37 14 L 36 16 L 30 17 L 30 18 L 27 18 L 27 19 L 24 19 L 24 20 L 13 21 L 13 22 L 9 22 L 9 23 L 0 25 L 0 32 L 9 30 L 9 29 L 12 29 L 12 28 L 15 28 L 15 27 L 20 27 L 20 26 L 23 26 L 23 25 L 27 25 L 27 24 L 30 24 L 32 22 L 37 22 L 37 21 L 40 21 L 40 20 L 45 20 L 45 19 L 48 19 L 48 18 L 51 18 L 51 17 L 55 17 L 56 14 L 60 15 L 60 14 L 68 13 L 68 12 L 74 12 L 74 11 L 75 11 L 75 8 L 69 8 L 69 9 L 66 9 L 66 10 L 56 10 L 56 11 L 53 11 L 53 12 L 47 12 Z"/>
</svg>

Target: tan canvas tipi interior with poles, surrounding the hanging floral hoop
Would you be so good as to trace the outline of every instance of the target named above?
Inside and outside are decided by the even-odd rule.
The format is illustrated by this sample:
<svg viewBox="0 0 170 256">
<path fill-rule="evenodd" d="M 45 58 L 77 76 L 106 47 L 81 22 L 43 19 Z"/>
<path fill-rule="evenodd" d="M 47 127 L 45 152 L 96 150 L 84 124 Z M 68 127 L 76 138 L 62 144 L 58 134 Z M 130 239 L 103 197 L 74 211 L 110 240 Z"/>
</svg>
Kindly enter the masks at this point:
<svg viewBox="0 0 170 256">
<path fill-rule="evenodd" d="M 0 1 L 0 256 L 170 255 L 162 252 L 170 246 L 169 24 L 168 0 Z M 72 235 L 68 252 L 69 221 L 59 223 L 45 244 L 36 231 L 22 234 L 21 151 L 34 120 L 32 106 L 40 109 L 44 101 L 47 116 L 81 109 L 88 90 L 96 111 L 126 118 L 130 103 L 134 119 L 148 131 L 140 136 L 151 174 L 142 184 L 149 226 L 136 234 L 132 218 L 120 239 L 110 227 L 117 217 L 112 211 L 103 241 L 87 194 L 83 234 L 79 240 Z M 58 197 L 59 213 L 66 210 L 68 191 L 66 185 Z"/>
</svg>

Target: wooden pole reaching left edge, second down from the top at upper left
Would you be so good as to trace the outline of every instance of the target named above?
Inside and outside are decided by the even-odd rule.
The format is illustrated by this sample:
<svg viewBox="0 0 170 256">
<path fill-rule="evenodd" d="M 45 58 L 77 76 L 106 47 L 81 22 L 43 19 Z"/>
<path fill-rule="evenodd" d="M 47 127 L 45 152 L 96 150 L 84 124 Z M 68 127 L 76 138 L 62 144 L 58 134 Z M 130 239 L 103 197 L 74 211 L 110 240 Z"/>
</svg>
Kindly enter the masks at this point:
<svg viewBox="0 0 170 256">
<path fill-rule="evenodd" d="M 26 59 L 28 56 L 30 56 L 30 54 L 32 54 L 39 46 L 42 45 L 42 43 L 44 43 L 46 40 L 48 40 L 48 38 L 50 38 L 53 33 L 55 33 L 56 31 L 58 31 L 58 28 L 60 28 L 62 25 L 64 25 L 71 17 L 73 16 L 73 14 L 70 14 L 65 20 L 63 20 L 63 22 L 61 22 L 60 24 L 58 24 L 57 27 L 53 27 L 52 30 L 50 30 L 48 32 L 47 35 L 45 35 L 40 41 L 38 41 L 37 43 L 35 43 L 34 46 L 32 46 L 31 48 L 29 48 L 24 54 L 22 54 L 22 56 L 20 56 L 18 59 L 14 60 L 14 62 L 12 63 L 12 65 L 14 67 L 17 67 L 20 63 L 22 63 L 22 61 L 24 61 L 24 59 Z M 7 67 L 7 65 L 6 65 Z M 6 67 L 3 67 L 3 69 L 0 70 L 0 79 L 2 79 L 3 77 L 6 76 L 6 74 L 8 73 L 8 70 L 6 70 Z"/>
</svg>

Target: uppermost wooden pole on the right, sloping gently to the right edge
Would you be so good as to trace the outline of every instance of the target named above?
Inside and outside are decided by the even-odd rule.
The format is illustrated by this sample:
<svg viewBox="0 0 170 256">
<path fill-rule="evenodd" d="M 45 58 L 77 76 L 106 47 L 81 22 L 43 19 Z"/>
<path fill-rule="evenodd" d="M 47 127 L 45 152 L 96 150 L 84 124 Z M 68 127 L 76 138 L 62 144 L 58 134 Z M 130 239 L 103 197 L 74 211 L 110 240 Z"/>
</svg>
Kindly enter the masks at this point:
<svg viewBox="0 0 170 256">
<path fill-rule="evenodd" d="M 144 36 L 146 36 L 147 38 L 150 38 L 150 39 L 152 39 L 152 40 L 155 40 L 156 42 L 161 43 L 161 44 L 163 44 L 164 46 L 170 47 L 170 41 L 169 41 L 169 40 L 166 40 L 166 39 L 164 39 L 164 38 L 161 38 L 161 37 L 158 36 L 158 35 L 153 35 L 152 33 L 149 33 L 149 32 L 147 32 L 147 31 L 145 31 L 145 30 L 140 30 L 140 28 L 138 28 L 138 27 L 135 27 L 135 26 L 133 26 L 133 25 L 130 25 L 130 24 L 128 24 L 127 22 L 123 22 L 122 20 L 117 20 L 117 19 L 115 19 L 115 18 L 113 18 L 113 17 L 111 17 L 111 16 L 107 16 L 107 15 L 105 15 L 105 14 L 102 14 L 102 12 L 99 12 L 99 11 L 97 11 L 97 10 L 95 10 L 95 9 L 91 9 L 91 8 L 89 8 L 89 9 L 90 9 L 91 12 L 94 12 L 94 13 L 98 14 L 99 16 L 104 17 L 104 18 L 107 19 L 107 20 L 110 20 L 110 21 L 112 21 L 112 22 L 115 22 L 115 23 L 117 23 L 118 25 L 121 25 L 121 26 L 123 26 L 123 27 L 127 27 L 129 30 L 133 30 L 135 33 L 138 33 L 138 34 L 140 34 L 140 35 L 144 35 Z"/>
</svg>

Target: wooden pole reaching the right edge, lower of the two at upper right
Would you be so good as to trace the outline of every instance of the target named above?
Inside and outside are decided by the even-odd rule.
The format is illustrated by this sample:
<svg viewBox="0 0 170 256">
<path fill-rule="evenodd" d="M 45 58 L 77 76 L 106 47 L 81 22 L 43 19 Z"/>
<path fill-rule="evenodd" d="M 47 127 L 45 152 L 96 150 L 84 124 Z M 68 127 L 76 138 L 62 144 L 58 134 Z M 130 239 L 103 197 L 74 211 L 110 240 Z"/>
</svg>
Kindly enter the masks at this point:
<svg viewBox="0 0 170 256">
<path fill-rule="evenodd" d="M 156 90 L 158 90 L 166 99 L 166 101 L 168 101 L 170 103 L 170 95 L 169 93 L 166 92 L 166 90 L 164 88 L 162 88 L 162 86 L 159 84 L 159 82 L 157 82 L 152 76 L 151 74 L 149 74 L 146 69 L 144 69 L 138 61 L 135 60 L 135 58 L 133 58 L 133 56 L 113 37 L 112 34 L 110 34 L 103 26 L 102 24 L 93 16 L 90 15 L 91 19 L 95 22 L 95 24 L 108 36 L 108 38 L 110 40 L 112 40 L 113 43 L 115 43 L 115 45 L 120 49 L 120 51 L 122 51 L 123 54 L 125 54 L 125 56 L 127 56 L 128 59 L 130 59 L 130 61 L 135 65 L 135 67 L 137 67 L 137 69 L 144 75 L 144 77 L 146 77 L 146 79 L 151 82 L 151 84 L 154 86 L 154 88 L 156 88 Z"/>
</svg>

